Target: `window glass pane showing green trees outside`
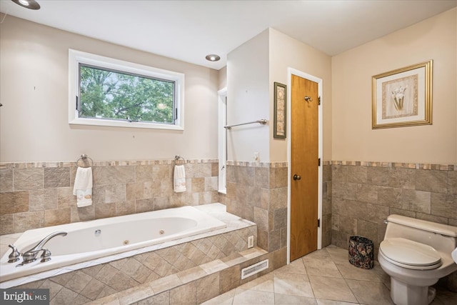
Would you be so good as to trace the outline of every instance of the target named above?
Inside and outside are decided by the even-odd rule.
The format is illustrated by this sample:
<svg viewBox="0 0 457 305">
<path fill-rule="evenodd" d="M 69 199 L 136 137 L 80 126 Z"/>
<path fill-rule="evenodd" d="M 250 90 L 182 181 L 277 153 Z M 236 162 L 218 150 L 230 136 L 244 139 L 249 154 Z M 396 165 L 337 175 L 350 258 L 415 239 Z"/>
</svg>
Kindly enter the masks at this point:
<svg viewBox="0 0 457 305">
<path fill-rule="evenodd" d="M 79 117 L 174 124 L 175 82 L 79 64 Z"/>
</svg>

